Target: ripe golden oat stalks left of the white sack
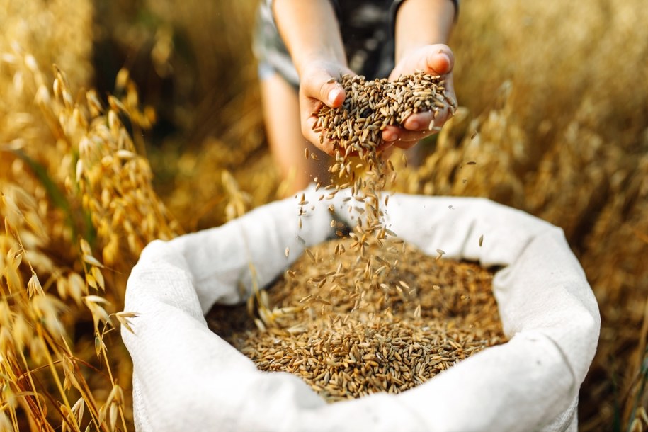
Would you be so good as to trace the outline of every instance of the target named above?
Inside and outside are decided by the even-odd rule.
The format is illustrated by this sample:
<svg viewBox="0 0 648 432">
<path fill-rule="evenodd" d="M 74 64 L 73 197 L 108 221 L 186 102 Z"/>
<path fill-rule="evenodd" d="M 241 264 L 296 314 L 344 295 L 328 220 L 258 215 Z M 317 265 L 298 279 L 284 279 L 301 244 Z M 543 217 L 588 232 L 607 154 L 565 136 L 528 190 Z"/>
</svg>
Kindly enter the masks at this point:
<svg viewBox="0 0 648 432">
<path fill-rule="evenodd" d="M 77 6 L 12 2 L 3 16 L 1 430 L 130 428 L 131 365 L 113 337 L 134 316 L 119 312 L 125 279 L 144 244 L 179 232 L 128 132 L 150 126 L 132 81 L 107 101 L 79 89 L 92 8 Z"/>
</svg>

